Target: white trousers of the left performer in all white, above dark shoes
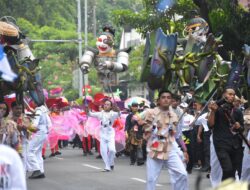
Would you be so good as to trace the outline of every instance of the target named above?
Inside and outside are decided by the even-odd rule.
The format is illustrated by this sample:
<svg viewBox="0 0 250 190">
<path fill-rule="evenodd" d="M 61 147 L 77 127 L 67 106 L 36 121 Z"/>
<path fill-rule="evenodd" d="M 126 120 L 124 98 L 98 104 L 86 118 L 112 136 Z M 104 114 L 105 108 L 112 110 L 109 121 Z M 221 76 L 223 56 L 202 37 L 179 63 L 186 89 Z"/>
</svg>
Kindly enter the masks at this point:
<svg viewBox="0 0 250 190">
<path fill-rule="evenodd" d="M 42 148 L 43 143 L 47 138 L 47 134 L 41 133 L 36 134 L 29 143 L 28 151 L 28 170 L 36 171 L 40 170 L 44 173 L 43 158 L 42 158 Z"/>
</svg>

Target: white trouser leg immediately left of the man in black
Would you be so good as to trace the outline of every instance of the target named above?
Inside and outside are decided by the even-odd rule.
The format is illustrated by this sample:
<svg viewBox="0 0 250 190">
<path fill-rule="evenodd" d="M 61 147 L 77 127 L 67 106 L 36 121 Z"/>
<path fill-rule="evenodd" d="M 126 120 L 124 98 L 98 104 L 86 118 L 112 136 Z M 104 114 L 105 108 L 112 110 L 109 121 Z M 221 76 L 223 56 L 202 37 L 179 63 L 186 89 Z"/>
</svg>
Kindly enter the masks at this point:
<svg viewBox="0 0 250 190">
<path fill-rule="evenodd" d="M 210 181 L 212 187 L 216 187 L 220 184 L 222 179 L 222 168 L 220 166 L 220 162 L 218 160 L 217 154 L 214 148 L 213 136 L 210 136 Z"/>
</svg>

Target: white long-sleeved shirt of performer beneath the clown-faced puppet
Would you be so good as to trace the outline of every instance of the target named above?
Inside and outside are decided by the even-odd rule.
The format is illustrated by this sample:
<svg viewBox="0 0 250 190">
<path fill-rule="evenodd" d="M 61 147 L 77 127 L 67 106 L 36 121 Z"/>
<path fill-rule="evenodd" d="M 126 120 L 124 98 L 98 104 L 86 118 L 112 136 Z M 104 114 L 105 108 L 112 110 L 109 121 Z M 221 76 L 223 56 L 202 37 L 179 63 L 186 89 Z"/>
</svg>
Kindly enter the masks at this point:
<svg viewBox="0 0 250 190">
<path fill-rule="evenodd" d="M 96 117 L 101 123 L 101 138 L 109 138 L 115 136 L 115 130 L 113 128 L 114 121 L 119 117 L 119 112 L 114 111 L 101 111 L 101 112 L 89 112 L 89 116 Z"/>
</svg>

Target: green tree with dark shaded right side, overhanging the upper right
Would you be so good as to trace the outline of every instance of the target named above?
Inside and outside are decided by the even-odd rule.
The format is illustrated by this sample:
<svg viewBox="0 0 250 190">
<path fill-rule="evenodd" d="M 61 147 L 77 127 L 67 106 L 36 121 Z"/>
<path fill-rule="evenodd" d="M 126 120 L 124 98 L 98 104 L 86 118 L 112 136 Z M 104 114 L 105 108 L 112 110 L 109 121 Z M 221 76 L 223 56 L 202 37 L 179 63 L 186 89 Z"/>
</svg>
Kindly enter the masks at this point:
<svg viewBox="0 0 250 190">
<path fill-rule="evenodd" d="M 195 11 L 208 22 L 211 32 L 223 34 L 226 51 L 233 51 L 240 57 L 243 44 L 250 43 L 250 12 L 238 5 L 236 0 L 178 0 L 176 5 L 164 13 L 156 11 L 158 2 L 143 0 L 144 9 L 140 12 L 115 10 L 113 21 L 117 25 L 137 28 L 144 36 L 159 27 L 165 32 L 179 32 L 181 36 L 184 25 L 194 16 Z M 183 17 L 172 22 L 175 14 Z M 227 57 L 225 53 L 223 55 Z"/>
</svg>

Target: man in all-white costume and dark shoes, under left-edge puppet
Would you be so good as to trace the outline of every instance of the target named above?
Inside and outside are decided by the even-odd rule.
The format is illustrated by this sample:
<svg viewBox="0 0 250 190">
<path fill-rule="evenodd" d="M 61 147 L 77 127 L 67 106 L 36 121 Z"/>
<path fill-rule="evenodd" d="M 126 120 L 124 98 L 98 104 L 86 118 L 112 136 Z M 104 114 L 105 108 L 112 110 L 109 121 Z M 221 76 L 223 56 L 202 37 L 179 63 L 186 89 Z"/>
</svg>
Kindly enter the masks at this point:
<svg viewBox="0 0 250 190">
<path fill-rule="evenodd" d="M 35 109 L 34 126 L 38 129 L 29 143 L 28 170 L 32 171 L 29 179 L 44 178 L 44 165 L 42 158 L 42 147 L 48 136 L 51 120 L 49 110 L 44 105 Z"/>
</svg>

